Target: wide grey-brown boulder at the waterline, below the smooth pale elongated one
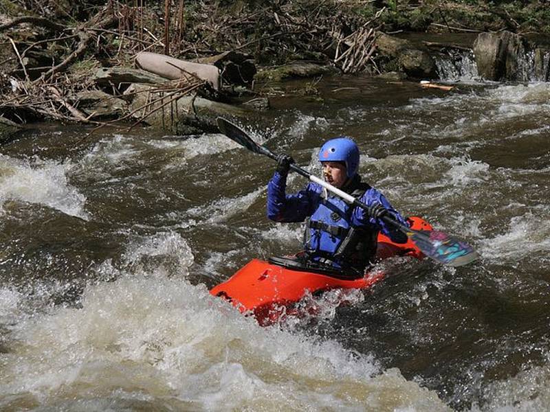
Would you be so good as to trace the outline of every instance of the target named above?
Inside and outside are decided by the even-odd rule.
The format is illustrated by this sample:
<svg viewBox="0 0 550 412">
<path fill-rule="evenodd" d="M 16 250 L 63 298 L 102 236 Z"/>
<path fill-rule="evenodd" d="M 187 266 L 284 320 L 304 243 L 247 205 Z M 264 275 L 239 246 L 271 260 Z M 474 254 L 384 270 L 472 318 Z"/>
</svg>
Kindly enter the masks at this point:
<svg viewBox="0 0 550 412">
<path fill-rule="evenodd" d="M 170 102 L 172 98 L 168 93 L 148 84 L 132 84 L 124 94 L 133 96 L 130 111 L 135 112 L 135 119 L 143 119 L 149 126 L 175 135 L 212 133 L 217 131 L 217 127 L 210 119 L 249 113 L 244 108 L 189 95 Z"/>
</svg>

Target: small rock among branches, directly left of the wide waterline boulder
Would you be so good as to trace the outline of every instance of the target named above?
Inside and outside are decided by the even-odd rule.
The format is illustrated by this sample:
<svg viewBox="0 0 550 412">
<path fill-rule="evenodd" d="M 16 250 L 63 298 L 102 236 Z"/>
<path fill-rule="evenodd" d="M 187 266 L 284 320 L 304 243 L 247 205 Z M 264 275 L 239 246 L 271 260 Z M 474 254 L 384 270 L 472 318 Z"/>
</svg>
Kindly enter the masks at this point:
<svg viewBox="0 0 550 412">
<path fill-rule="evenodd" d="M 80 91 L 74 96 L 75 106 L 90 119 L 115 119 L 128 113 L 129 104 L 100 90 Z"/>
</svg>

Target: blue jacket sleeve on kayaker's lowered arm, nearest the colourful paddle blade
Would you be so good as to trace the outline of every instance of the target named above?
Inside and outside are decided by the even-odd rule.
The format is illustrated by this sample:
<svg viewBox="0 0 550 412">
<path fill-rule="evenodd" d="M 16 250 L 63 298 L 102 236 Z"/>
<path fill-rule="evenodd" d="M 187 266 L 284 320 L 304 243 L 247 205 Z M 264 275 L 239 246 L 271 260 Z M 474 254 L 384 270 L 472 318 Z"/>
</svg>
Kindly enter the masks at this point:
<svg viewBox="0 0 550 412">
<path fill-rule="evenodd" d="M 403 216 L 401 216 L 401 214 L 399 214 L 399 212 L 395 210 L 393 206 L 388 202 L 388 199 L 386 199 L 386 197 L 382 193 L 378 192 L 376 189 L 371 188 L 367 190 L 360 200 L 369 206 L 373 203 L 381 203 L 382 206 L 384 206 L 390 212 L 390 214 L 392 215 L 391 217 L 401 223 L 401 225 L 405 225 L 407 227 L 409 226 Z M 371 216 L 367 214 L 366 210 L 362 209 L 361 207 L 356 207 L 353 211 L 353 224 L 366 227 L 375 227 L 396 243 L 405 243 L 407 241 L 406 234 L 402 233 L 396 227 L 393 227 L 393 225 L 388 225 L 386 222 L 384 222 L 384 220 L 380 218 L 371 218 Z"/>
</svg>

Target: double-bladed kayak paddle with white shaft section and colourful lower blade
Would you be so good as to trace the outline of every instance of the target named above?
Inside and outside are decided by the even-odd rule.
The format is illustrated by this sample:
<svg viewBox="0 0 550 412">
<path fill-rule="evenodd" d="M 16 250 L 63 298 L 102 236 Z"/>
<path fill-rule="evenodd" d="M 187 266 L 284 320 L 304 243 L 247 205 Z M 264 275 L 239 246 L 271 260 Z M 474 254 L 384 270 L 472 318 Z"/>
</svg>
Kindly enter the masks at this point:
<svg viewBox="0 0 550 412">
<path fill-rule="evenodd" d="M 217 124 L 221 133 L 223 133 L 225 136 L 229 137 L 233 141 L 236 141 L 236 143 L 240 144 L 241 146 L 244 146 L 254 153 L 259 153 L 260 155 L 271 157 L 274 160 L 277 159 L 277 155 L 274 152 L 272 152 L 268 148 L 265 148 L 265 146 L 260 146 L 259 144 L 256 144 L 256 142 L 252 140 L 252 138 L 247 135 L 241 128 L 235 126 L 228 120 L 225 120 L 222 117 L 218 117 Z M 310 181 L 315 182 L 322 187 L 325 187 L 325 189 L 329 190 L 329 192 L 340 196 L 344 199 L 344 201 L 347 201 L 351 205 L 362 207 L 366 210 L 369 209 L 369 206 L 367 206 L 359 199 L 351 196 L 350 194 L 347 194 L 346 192 L 342 192 L 342 190 L 325 182 L 317 176 L 309 174 L 306 170 L 300 168 L 294 163 L 290 165 L 290 168 L 294 170 L 294 172 L 301 174 L 304 177 L 307 177 L 307 179 L 309 179 Z M 390 216 L 382 216 L 382 219 L 385 222 L 388 222 L 388 224 L 397 227 L 400 231 L 405 233 L 406 236 L 408 236 L 426 256 L 437 260 L 437 262 L 440 262 L 442 264 L 446 264 L 449 266 L 462 266 L 476 260 L 479 257 L 478 253 L 474 251 L 474 249 L 470 245 L 454 238 L 453 236 L 448 235 L 445 232 L 436 230 L 422 231 L 410 229 L 410 227 L 401 225 L 400 222 L 391 218 Z"/>
</svg>

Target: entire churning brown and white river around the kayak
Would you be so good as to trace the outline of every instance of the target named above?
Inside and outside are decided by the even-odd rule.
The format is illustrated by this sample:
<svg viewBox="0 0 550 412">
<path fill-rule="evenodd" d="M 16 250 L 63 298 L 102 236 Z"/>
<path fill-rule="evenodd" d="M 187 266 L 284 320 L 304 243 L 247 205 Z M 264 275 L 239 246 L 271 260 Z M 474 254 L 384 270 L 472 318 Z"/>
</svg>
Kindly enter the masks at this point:
<svg viewBox="0 0 550 412">
<path fill-rule="evenodd" d="M 270 159 L 40 125 L 0 148 L 1 410 L 550 409 L 550 84 L 281 94 L 297 86 L 245 130 L 316 173 L 327 138 L 355 138 L 364 180 L 481 260 L 393 258 L 371 290 L 261 328 L 208 289 L 300 249 L 300 225 L 265 217 Z"/>
</svg>

